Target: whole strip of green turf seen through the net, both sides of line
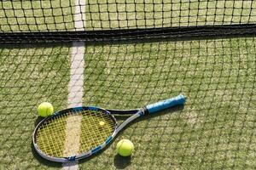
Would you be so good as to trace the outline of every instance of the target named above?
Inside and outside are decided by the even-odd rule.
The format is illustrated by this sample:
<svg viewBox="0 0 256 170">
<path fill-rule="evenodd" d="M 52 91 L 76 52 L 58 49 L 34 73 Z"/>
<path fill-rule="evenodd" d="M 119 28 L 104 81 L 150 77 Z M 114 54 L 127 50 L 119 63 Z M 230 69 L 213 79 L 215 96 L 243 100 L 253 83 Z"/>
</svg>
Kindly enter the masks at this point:
<svg viewBox="0 0 256 170">
<path fill-rule="evenodd" d="M 73 31 L 83 10 L 86 31 L 256 22 L 253 0 L 14 0 L 0 3 L 0 31 Z"/>
</svg>

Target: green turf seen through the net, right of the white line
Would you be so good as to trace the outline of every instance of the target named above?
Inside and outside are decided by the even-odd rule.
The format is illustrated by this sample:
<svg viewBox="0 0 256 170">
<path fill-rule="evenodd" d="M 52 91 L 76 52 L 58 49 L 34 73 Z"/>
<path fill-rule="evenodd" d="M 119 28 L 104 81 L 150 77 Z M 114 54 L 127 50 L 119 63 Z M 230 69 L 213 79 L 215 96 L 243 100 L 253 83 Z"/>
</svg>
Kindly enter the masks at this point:
<svg viewBox="0 0 256 170">
<path fill-rule="evenodd" d="M 254 1 L 88 0 L 87 30 L 254 23 Z"/>
</svg>

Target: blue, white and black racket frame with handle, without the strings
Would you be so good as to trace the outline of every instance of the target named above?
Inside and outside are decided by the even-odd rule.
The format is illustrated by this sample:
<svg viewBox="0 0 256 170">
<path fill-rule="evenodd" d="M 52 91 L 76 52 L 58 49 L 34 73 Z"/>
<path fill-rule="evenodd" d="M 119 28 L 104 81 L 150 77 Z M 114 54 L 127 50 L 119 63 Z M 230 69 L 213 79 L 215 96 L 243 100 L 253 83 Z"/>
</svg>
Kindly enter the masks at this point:
<svg viewBox="0 0 256 170">
<path fill-rule="evenodd" d="M 96 152 L 105 148 L 106 145 L 108 145 L 116 137 L 116 135 L 120 132 L 120 130 L 122 130 L 130 122 L 133 122 L 134 120 L 136 120 L 138 117 L 144 116 L 145 114 L 152 114 L 157 111 L 162 111 L 164 109 L 170 108 L 175 105 L 183 105 L 184 103 L 185 103 L 185 97 L 183 96 L 183 94 L 180 94 L 177 97 L 174 97 L 172 99 L 162 100 L 155 104 L 147 105 L 141 109 L 136 109 L 136 110 L 126 110 L 126 111 L 125 110 L 124 111 L 105 110 L 105 109 L 95 107 L 95 106 L 89 106 L 89 107 L 82 106 L 82 107 L 69 108 L 69 109 L 66 109 L 63 111 L 55 112 L 53 116 L 46 117 L 46 118 L 44 118 L 44 120 L 39 122 L 38 125 L 35 127 L 35 130 L 32 133 L 32 143 L 33 143 L 34 149 L 38 152 L 38 154 L 49 161 L 56 161 L 56 162 L 77 161 L 79 159 L 83 159 L 85 157 L 94 155 Z M 102 111 L 102 113 L 110 116 L 111 119 L 113 120 L 113 122 L 115 122 L 115 126 L 113 127 L 113 133 L 102 144 L 99 144 L 95 148 L 91 149 L 88 152 L 82 153 L 79 156 L 53 157 L 53 156 L 44 154 L 44 152 L 39 149 L 38 144 L 36 142 L 37 141 L 37 132 L 38 132 L 39 127 L 41 127 L 41 125 L 44 122 L 48 121 L 49 119 L 54 118 L 55 116 L 61 116 L 61 114 L 75 114 L 75 113 L 73 113 L 73 111 Z M 119 124 L 116 121 L 115 117 L 113 116 L 115 114 L 116 115 L 132 115 L 132 116 L 130 116 L 124 122 Z"/>
</svg>

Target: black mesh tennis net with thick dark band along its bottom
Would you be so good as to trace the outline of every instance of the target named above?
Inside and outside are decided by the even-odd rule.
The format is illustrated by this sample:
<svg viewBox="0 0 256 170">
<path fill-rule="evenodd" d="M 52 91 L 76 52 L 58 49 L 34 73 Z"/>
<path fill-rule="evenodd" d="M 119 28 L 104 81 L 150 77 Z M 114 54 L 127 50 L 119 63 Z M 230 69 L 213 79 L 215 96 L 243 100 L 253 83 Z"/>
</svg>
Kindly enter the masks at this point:
<svg viewBox="0 0 256 170">
<path fill-rule="evenodd" d="M 0 42 L 102 41 L 256 32 L 253 0 L 3 0 Z"/>
</svg>

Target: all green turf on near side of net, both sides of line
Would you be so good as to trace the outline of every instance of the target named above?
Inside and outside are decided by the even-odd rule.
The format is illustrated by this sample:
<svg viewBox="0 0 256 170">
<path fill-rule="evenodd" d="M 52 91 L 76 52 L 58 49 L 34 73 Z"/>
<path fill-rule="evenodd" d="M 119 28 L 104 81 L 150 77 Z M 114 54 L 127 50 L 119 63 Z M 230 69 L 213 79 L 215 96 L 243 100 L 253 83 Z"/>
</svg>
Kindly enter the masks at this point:
<svg viewBox="0 0 256 170">
<path fill-rule="evenodd" d="M 256 167 L 256 43 L 254 37 L 90 44 L 84 51 L 83 105 L 132 109 L 183 93 L 184 108 L 131 123 L 84 168 Z M 60 166 L 31 148 L 37 105 L 67 108 L 73 46 L 2 47 L 1 164 L 20 169 Z M 78 60 L 77 60 L 78 61 Z M 80 88 L 76 93 L 81 92 Z M 68 97 L 72 101 L 77 96 Z M 116 156 L 131 139 L 131 158 Z"/>
</svg>

